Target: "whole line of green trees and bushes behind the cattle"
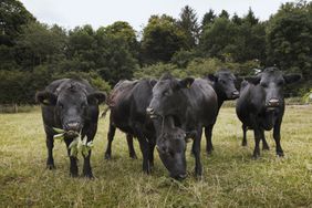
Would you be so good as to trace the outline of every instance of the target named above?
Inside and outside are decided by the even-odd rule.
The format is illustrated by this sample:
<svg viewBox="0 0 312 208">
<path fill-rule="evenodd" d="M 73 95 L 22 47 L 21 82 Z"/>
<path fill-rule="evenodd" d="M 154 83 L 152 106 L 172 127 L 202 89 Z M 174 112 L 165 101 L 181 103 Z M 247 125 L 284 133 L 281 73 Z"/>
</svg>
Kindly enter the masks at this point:
<svg viewBox="0 0 312 208">
<path fill-rule="evenodd" d="M 240 75 L 275 65 L 300 72 L 292 87 L 312 87 L 312 2 L 281 4 L 268 21 L 209 10 L 201 20 L 186 6 L 177 19 L 152 15 L 142 31 L 125 21 L 65 30 L 39 22 L 18 0 L 0 2 L 0 103 L 32 104 L 52 80 L 84 77 L 100 90 L 123 79 L 201 76 L 228 67 Z"/>
</svg>

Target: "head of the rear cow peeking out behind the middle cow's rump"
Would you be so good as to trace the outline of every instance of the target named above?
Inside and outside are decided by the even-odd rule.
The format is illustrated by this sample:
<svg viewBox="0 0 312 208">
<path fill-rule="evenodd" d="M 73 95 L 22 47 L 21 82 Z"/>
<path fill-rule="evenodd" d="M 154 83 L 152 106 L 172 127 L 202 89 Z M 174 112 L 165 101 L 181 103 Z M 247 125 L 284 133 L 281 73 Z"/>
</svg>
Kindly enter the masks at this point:
<svg viewBox="0 0 312 208">
<path fill-rule="evenodd" d="M 229 70 L 220 70 L 215 74 L 208 74 L 208 80 L 210 80 L 214 85 L 218 97 L 223 100 L 235 100 L 239 97 L 239 92 L 236 89 L 237 77 Z"/>
</svg>

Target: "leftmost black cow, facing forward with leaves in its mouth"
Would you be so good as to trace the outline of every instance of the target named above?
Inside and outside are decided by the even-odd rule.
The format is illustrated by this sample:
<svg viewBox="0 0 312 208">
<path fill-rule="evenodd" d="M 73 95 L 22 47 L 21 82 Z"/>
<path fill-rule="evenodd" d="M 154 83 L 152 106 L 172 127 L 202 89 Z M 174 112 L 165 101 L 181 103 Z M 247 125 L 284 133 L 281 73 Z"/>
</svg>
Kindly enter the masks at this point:
<svg viewBox="0 0 312 208">
<path fill-rule="evenodd" d="M 70 156 L 71 176 L 77 176 L 76 157 L 70 154 L 70 144 L 79 134 L 87 142 L 93 141 L 97 129 L 98 104 L 105 101 L 106 94 L 95 91 L 85 80 L 63 79 L 52 82 L 44 91 L 38 92 L 37 101 L 41 103 L 42 118 L 46 134 L 49 169 L 55 168 L 53 159 L 53 127 L 64 129 L 65 143 Z M 91 150 L 84 156 L 83 176 L 93 177 L 90 165 Z"/>
</svg>

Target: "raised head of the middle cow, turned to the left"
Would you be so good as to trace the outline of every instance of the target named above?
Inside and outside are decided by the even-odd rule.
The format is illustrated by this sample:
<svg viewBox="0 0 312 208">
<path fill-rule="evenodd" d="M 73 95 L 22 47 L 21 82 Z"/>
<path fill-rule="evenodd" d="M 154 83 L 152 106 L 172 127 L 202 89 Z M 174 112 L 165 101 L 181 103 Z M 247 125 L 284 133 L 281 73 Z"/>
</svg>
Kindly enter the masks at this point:
<svg viewBox="0 0 312 208">
<path fill-rule="evenodd" d="M 165 74 L 153 87 L 153 98 L 146 112 L 150 117 L 176 115 L 186 104 L 181 95 L 183 89 L 188 89 L 194 82 L 193 77 L 177 80 L 170 74 Z"/>
</svg>

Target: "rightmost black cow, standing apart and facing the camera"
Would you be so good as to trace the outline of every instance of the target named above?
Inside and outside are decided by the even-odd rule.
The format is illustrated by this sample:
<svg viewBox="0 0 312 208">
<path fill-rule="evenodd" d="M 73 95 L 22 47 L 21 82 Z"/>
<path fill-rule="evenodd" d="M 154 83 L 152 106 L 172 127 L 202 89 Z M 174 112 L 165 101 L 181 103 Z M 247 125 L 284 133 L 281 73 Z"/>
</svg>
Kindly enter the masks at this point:
<svg viewBox="0 0 312 208">
<path fill-rule="evenodd" d="M 256 141 L 254 158 L 260 156 L 260 139 L 263 141 L 263 148 L 268 148 L 264 131 L 271 131 L 272 128 L 277 155 L 284 155 L 280 144 L 281 123 L 284 114 L 283 86 L 300 79 L 301 75 L 299 74 L 283 75 L 278 69 L 268 67 L 257 76 L 246 77 L 248 82 L 241 83 L 236 112 L 242 122 L 242 145 L 247 144 L 247 129 L 253 129 Z"/>
</svg>

